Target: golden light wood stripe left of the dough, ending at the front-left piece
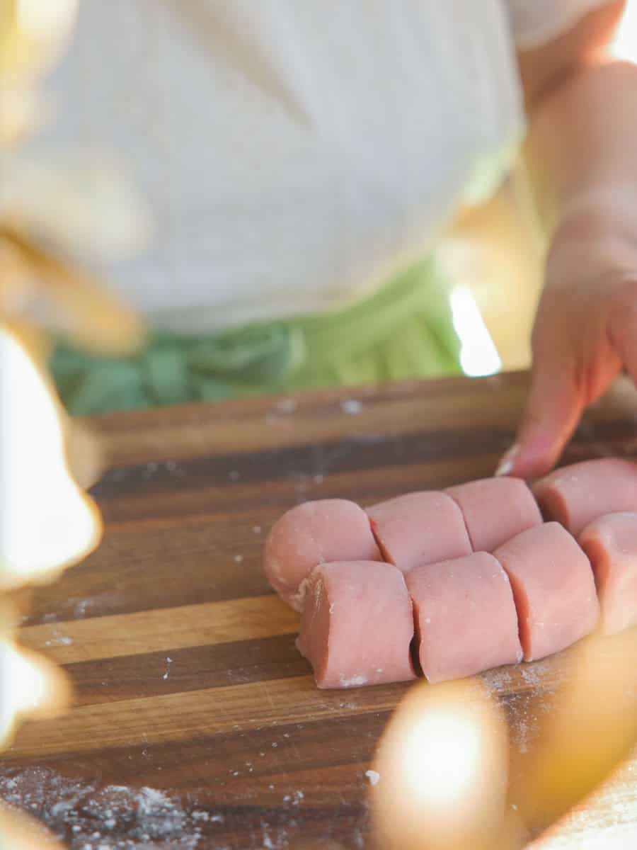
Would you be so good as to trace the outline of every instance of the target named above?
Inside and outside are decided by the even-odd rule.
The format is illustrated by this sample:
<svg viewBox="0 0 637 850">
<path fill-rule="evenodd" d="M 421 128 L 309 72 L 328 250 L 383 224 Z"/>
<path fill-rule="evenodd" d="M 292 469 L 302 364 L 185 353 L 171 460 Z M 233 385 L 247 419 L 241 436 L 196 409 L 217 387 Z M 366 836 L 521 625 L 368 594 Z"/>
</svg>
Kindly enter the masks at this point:
<svg viewBox="0 0 637 850">
<path fill-rule="evenodd" d="M 73 664 L 272 638 L 297 632 L 298 625 L 298 615 L 278 597 L 258 596 L 28 626 L 20 630 L 20 642 L 59 664 Z"/>
</svg>

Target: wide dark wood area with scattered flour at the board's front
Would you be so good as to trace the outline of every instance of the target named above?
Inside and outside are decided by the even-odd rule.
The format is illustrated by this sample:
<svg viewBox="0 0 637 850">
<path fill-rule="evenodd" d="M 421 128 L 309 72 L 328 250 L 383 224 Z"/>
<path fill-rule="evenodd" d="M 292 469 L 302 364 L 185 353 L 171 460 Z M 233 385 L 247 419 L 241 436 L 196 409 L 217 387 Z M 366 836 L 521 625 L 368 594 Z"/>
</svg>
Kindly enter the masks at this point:
<svg viewBox="0 0 637 850">
<path fill-rule="evenodd" d="M 328 721 L 300 726 L 199 736 L 166 745 L 112 750 L 97 745 L 94 752 L 82 754 L 73 754 L 70 742 L 64 757 L 23 761 L 19 767 L 0 761 L 0 788 L 7 779 L 16 780 L 22 796 L 29 795 L 31 815 L 72 842 L 70 850 L 85 847 L 95 831 L 107 840 L 140 840 L 134 800 L 123 811 L 116 808 L 116 830 L 104 829 L 104 811 L 113 808 L 113 795 L 106 790 L 111 785 L 133 792 L 149 787 L 178 797 L 189 825 L 195 811 L 214 816 L 215 821 L 202 823 L 206 829 L 200 832 L 197 850 L 256 850 L 268 846 L 264 836 L 273 847 L 298 850 L 313 846 L 302 843 L 310 839 L 330 847 L 331 837 L 338 839 L 336 847 L 364 847 L 369 830 L 369 782 L 364 773 L 388 717 L 386 711 L 349 718 L 335 713 Z M 10 752 L 5 758 L 10 759 Z M 73 802 L 76 814 L 70 816 L 57 804 L 64 803 L 68 780 L 78 778 L 86 791 Z M 74 833 L 70 823 L 79 831 Z M 76 843 L 78 835 L 82 843 Z M 168 837 L 183 838 L 184 830 Z"/>
</svg>

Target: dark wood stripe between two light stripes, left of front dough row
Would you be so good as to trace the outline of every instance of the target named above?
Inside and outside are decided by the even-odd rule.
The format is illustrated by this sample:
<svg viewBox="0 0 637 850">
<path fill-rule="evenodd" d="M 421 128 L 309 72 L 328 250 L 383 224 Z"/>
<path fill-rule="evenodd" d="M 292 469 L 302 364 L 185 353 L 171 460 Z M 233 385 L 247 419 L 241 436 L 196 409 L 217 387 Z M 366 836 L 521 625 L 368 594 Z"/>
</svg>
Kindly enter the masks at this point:
<svg viewBox="0 0 637 850">
<path fill-rule="evenodd" d="M 65 670 L 80 706 L 133 699 L 141 689 L 144 696 L 152 697 L 307 676 L 312 668 L 296 649 L 295 638 L 281 635 L 81 661 L 66 665 Z"/>
</svg>

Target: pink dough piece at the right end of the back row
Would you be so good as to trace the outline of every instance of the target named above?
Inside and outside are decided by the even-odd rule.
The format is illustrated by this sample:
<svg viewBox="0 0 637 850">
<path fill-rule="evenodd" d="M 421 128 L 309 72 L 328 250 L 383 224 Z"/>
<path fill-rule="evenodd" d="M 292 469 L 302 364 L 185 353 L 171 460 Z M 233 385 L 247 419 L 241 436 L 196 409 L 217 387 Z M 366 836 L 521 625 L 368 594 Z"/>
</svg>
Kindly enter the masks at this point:
<svg viewBox="0 0 637 850">
<path fill-rule="evenodd" d="M 637 466 L 619 457 L 561 467 L 533 485 L 544 519 L 578 536 L 606 513 L 637 509 Z"/>
</svg>

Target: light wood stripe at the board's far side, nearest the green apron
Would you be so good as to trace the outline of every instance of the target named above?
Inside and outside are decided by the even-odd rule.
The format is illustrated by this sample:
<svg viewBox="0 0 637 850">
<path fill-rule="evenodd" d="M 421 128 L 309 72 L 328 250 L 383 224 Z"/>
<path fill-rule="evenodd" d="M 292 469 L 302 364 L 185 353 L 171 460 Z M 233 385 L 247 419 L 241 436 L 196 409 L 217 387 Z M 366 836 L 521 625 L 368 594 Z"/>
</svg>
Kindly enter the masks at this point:
<svg viewBox="0 0 637 850">
<path fill-rule="evenodd" d="M 481 428 L 493 424 L 493 414 L 480 399 L 499 384 L 510 388 L 500 405 L 507 418 L 515 422 L 527 386 L 526 377 L 521 376 L 497 376 L 468 387 L 454 380 L 432 385 L 404 383 L 385 388 L 386 397 L 381 399 L 377 395 L 382 389 L 372 394 L 369 388 L 323 392 L 316 397 L 304 394 L 295 398 L 296 407 L 291 411 L 285 399 L 253 399 L 250 416 L 245 415 L 245 406 L 240 403 L 214 405 L 213 409 L 191 405 L 181 409 L 178 423 L 169 416 L 162 420 L 154 411 L 140 411 L 127 417 L 127 432 L 117 430 L 115 440 L 110 439 L 110 417 L 95 419 L 91 426 L 99 431 L 111 465 L 211 458 L 369 434 L 369 422 L 385 439 L 397 433 L 418 433 L 427 428 L 423 408 L 430 397 L 431 404 L 436 405 L 436 428 L 458 428 L 459 422 Z M 343 416 L 341 401 L 350 398 L 363 404 L 357 416 Z"/>
</svg>

